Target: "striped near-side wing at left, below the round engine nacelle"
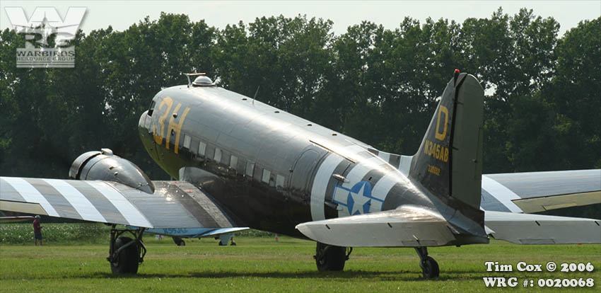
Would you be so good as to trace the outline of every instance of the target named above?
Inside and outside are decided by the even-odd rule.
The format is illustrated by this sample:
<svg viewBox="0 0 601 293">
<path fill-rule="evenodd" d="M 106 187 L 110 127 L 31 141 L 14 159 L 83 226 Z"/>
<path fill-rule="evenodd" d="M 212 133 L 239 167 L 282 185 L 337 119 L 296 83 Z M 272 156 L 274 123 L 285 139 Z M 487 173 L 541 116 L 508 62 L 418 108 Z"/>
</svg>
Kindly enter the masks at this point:
<svg viewBox="0 0 601 293">
<path fill-rule="evenodd" d="M 0 177 L 0 210 L 145 228 L 236 226 L 194 185 L 153 184 L 149 194 L 112 181 Z"/>
</svg>

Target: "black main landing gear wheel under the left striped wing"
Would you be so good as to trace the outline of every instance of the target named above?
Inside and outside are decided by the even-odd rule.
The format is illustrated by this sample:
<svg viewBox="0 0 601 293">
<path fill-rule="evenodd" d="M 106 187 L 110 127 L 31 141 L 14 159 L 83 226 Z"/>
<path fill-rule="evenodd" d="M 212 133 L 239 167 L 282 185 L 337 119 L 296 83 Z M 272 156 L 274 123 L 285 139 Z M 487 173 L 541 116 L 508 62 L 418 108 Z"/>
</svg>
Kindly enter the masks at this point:
<svg viewBox="0 0 601 293">
<path fill-rule="evenodd" d="M 146 247 L 142 242 L 144 228 L 117 229 L 113 224 L 110 229 L 110 248 L 107 260 L 113 274 L 136 274 L 138 265 L 144 261 Z M 132 234 L 133 239 L 123 234 Z"/>
</svg>

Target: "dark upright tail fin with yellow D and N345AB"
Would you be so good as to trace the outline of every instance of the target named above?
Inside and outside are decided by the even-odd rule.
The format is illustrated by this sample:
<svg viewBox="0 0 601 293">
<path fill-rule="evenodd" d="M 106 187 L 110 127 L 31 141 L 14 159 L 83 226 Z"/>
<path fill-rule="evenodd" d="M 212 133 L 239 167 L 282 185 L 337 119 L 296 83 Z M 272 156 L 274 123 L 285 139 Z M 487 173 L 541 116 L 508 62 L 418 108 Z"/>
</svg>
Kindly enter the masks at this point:
<svg viewBox="0 0 601 293">
<path fill-rule="evenodd" d="M 479 209 L 483 107 L 479 81 L 456 71 L 412 159 L 409 178 L 445 201 L 453 197 Z"/>
</svg>

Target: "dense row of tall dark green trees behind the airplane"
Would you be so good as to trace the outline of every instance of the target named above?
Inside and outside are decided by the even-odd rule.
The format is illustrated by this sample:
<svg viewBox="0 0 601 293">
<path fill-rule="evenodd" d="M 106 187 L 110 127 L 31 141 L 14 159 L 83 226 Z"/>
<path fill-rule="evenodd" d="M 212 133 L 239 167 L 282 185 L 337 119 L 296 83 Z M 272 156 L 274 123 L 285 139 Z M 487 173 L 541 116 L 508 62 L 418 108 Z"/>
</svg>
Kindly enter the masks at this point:
<svg viewBox="0 0 601 293">
<path fill-rule="evenodd" d="M 413 154 L 455 68 L 486 88 L 484 171 L 601 167 L 601 18 L 563 37 L 553 18 L 501 9 L 463 23 L 404 18 L 333 35 L 332 21 L 263 17 L 222 30 L 163 13 L 123 32 L 79 33 L 74 69 L 17 69 L 23 35 L 0 35 L 0 174 L 66 177 L 110 147 L 165 178 L 136 126 L 163 86 L 206 72 L 221 86 Z"/>
</svg>

